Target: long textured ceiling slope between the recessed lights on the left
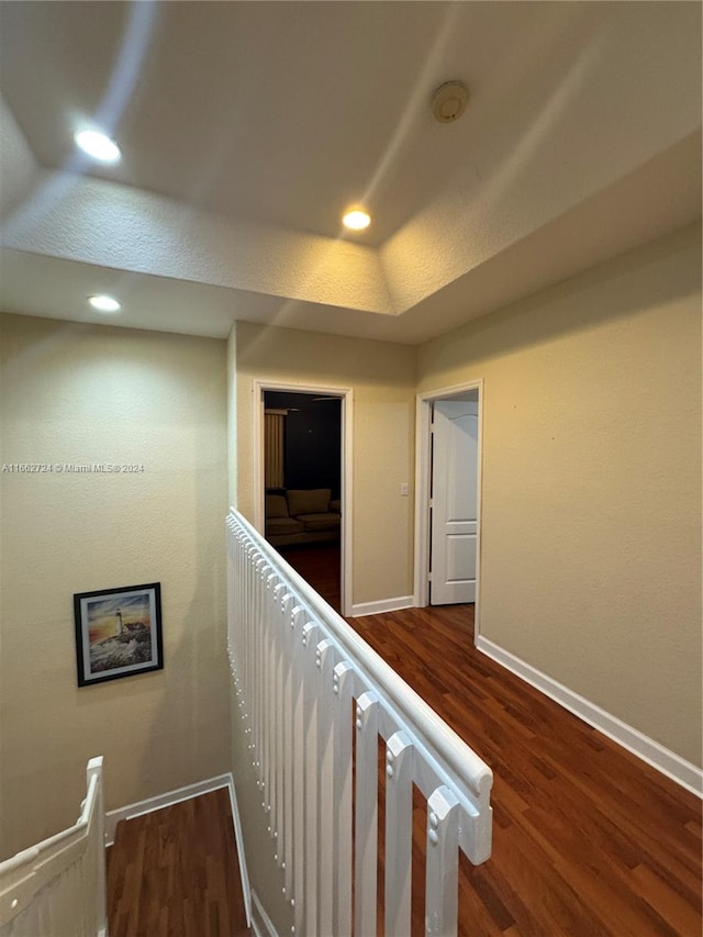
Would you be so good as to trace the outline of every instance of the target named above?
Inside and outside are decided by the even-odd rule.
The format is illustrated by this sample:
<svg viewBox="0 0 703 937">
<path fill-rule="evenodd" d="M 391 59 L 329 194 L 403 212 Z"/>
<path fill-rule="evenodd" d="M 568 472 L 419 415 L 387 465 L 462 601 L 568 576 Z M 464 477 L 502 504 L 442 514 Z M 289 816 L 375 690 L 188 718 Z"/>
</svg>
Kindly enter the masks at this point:
<svg viewBox="0 0 703 937">
<path fill-rule="evenodd" d="M 5 247 L 293 300 L 391 309 L 379 256 L 362 244 L 185 210 L 72 172 L 45 171 L 37 180 L 3 225 Z"/>
</svg>

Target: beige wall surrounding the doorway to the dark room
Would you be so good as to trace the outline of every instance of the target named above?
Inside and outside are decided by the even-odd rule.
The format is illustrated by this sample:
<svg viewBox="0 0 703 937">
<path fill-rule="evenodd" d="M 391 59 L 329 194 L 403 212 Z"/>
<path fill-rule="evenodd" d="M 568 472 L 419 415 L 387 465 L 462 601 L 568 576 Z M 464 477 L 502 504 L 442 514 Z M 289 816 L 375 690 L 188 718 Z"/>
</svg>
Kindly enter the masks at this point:
<svg viewBox="0 0 703 937">
<path fill-rule="evenodd" d="M 238 507 L 254 516 L 253 381 L 354 391 L 354 604 L 412 594 L 415 349 L 237 323 Z"/>
</svg>

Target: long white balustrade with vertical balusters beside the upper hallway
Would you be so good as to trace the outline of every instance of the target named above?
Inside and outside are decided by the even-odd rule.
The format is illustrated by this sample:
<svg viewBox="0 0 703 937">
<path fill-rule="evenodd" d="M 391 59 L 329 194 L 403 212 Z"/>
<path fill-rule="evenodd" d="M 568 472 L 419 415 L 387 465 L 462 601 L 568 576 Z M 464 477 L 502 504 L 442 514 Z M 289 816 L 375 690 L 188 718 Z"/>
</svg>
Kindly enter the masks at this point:
<svg viewBox="0 0 703 937">
<path fill-rule="evenodd" d="M 384 933 L 410 934 L 414 784 L 425 933 L 456 934 L 459 850 L 491 852 L 490 768 L 234 510 L 227 553 L 230 663 L 295 934 L 376 934 L 379 736 Z"/>
</svg>

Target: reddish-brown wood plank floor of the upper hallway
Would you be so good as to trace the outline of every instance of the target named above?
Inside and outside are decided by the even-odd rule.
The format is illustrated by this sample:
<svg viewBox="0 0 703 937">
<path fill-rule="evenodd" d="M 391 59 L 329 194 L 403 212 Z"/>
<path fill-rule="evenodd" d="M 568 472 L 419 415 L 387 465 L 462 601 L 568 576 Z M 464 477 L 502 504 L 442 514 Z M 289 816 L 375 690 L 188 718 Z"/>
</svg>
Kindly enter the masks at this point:
<svg viewBox="0 0 703 937">
<path fill-rule="evenodd" d="M 493 769 L 493 855 L 462 861 L 459 933 L 700 937 L 700 800 L 477 651 L 472 615 L 348 620 Z M 425 823 L 416 799 L 414 935 Z"/>
</svg>

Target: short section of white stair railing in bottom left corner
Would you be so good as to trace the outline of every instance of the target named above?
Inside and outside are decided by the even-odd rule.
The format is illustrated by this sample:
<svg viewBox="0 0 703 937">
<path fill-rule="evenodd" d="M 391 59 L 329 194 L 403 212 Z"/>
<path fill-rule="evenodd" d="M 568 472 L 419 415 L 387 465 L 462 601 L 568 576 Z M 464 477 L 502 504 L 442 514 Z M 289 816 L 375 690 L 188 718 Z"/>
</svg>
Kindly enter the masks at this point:
<svg viewBox="0 0 703 937">
<path fill-rule="evenodd" d="M 74 826 L 0 862 L 0 937 L 107 934 L 101 757 L 87 780 Z"/>
</svg>

